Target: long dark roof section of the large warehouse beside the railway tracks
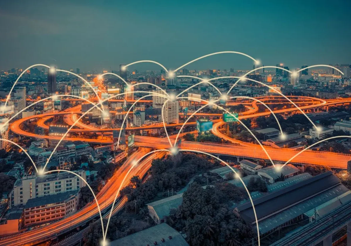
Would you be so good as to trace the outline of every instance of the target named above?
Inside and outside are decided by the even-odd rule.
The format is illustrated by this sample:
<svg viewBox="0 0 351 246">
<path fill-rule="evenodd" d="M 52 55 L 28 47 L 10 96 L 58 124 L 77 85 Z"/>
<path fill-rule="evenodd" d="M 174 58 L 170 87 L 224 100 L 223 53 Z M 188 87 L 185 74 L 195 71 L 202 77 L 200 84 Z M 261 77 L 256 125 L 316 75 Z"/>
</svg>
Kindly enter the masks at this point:
<svg viewBox="0 0 351 246">
<path fill-rule="evenodd" d="M 261 198 L 253 200 L 257 218 L 261 219 L 287 206 L 312 197 L 323 190 L 340 185 L 340 180 L 331 171 L 303 180 L 293 186 L 286 187 Z M 346 192 L 346 190 L 344 191 Z M 255 220 L 251 202 L 237 207 L 246 221 Z"/>
</svg>

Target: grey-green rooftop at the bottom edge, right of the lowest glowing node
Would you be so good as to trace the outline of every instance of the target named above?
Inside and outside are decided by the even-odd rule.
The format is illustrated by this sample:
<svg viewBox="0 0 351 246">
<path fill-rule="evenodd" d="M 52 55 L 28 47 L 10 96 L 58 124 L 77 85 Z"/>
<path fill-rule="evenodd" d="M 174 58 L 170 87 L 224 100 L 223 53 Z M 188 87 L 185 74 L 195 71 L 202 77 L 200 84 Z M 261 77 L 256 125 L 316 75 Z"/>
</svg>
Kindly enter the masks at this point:
<svg viewBox="0 0 351 246">
<path fill-rule="evenodd" d="M 169 236 L 171 236 L 172 239 L 170 239 Z M 165 242 L 161 242 L 162 238 L 165 239 Z M 159 245 L 164 246 L 188 246 L 183 236 L 166 223 L 152 226 L 143 231 L 112 241 L 110 242 L 110 246 L 145 246 L 153 245 L 155 241 L 157 241 Z"/>
</svg>

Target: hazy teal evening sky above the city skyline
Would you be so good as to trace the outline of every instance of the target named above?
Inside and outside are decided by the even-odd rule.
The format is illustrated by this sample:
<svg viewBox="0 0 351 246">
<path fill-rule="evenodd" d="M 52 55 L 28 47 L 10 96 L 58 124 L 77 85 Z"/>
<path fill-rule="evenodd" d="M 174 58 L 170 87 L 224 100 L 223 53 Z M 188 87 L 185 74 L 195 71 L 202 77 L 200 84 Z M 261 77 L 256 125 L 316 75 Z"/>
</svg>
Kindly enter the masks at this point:
<svg viewBox="0 0 351 246">
<path fill-rule="evenodd" d="M 350 9 L 347 0 L 1 1 L 0 70 L 35 63 L 119 70 L 120 63 L 144 59 L 175 69 L 218 51 L 291 69 L 351 63 Z M 252 61 L 221 54 L 186 68 L 230 67 L 252 69 Z"/>
</svg>

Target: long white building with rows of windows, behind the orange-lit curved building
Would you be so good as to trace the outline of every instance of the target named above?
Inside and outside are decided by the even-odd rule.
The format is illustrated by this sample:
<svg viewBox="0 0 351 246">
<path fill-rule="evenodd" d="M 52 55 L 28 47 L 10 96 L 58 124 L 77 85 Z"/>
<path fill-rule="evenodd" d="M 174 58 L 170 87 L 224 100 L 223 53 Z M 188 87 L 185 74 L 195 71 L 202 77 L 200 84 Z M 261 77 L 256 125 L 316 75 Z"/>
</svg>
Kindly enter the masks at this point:
<svg viewBox="0 0 351 246">
<path fill-rule="evenodd" d="M 76 171 L 81 179 L 86 180 L 85 170 Z M 61 172 L 45 176 L 24 176 L 16 180 L 13 190 L 9 195 L 9 208 L 24 206 L 29 199 L 46 195 L 79 190 L 86 186 L 84 181 L 71 173 Z"/>
</svg>

